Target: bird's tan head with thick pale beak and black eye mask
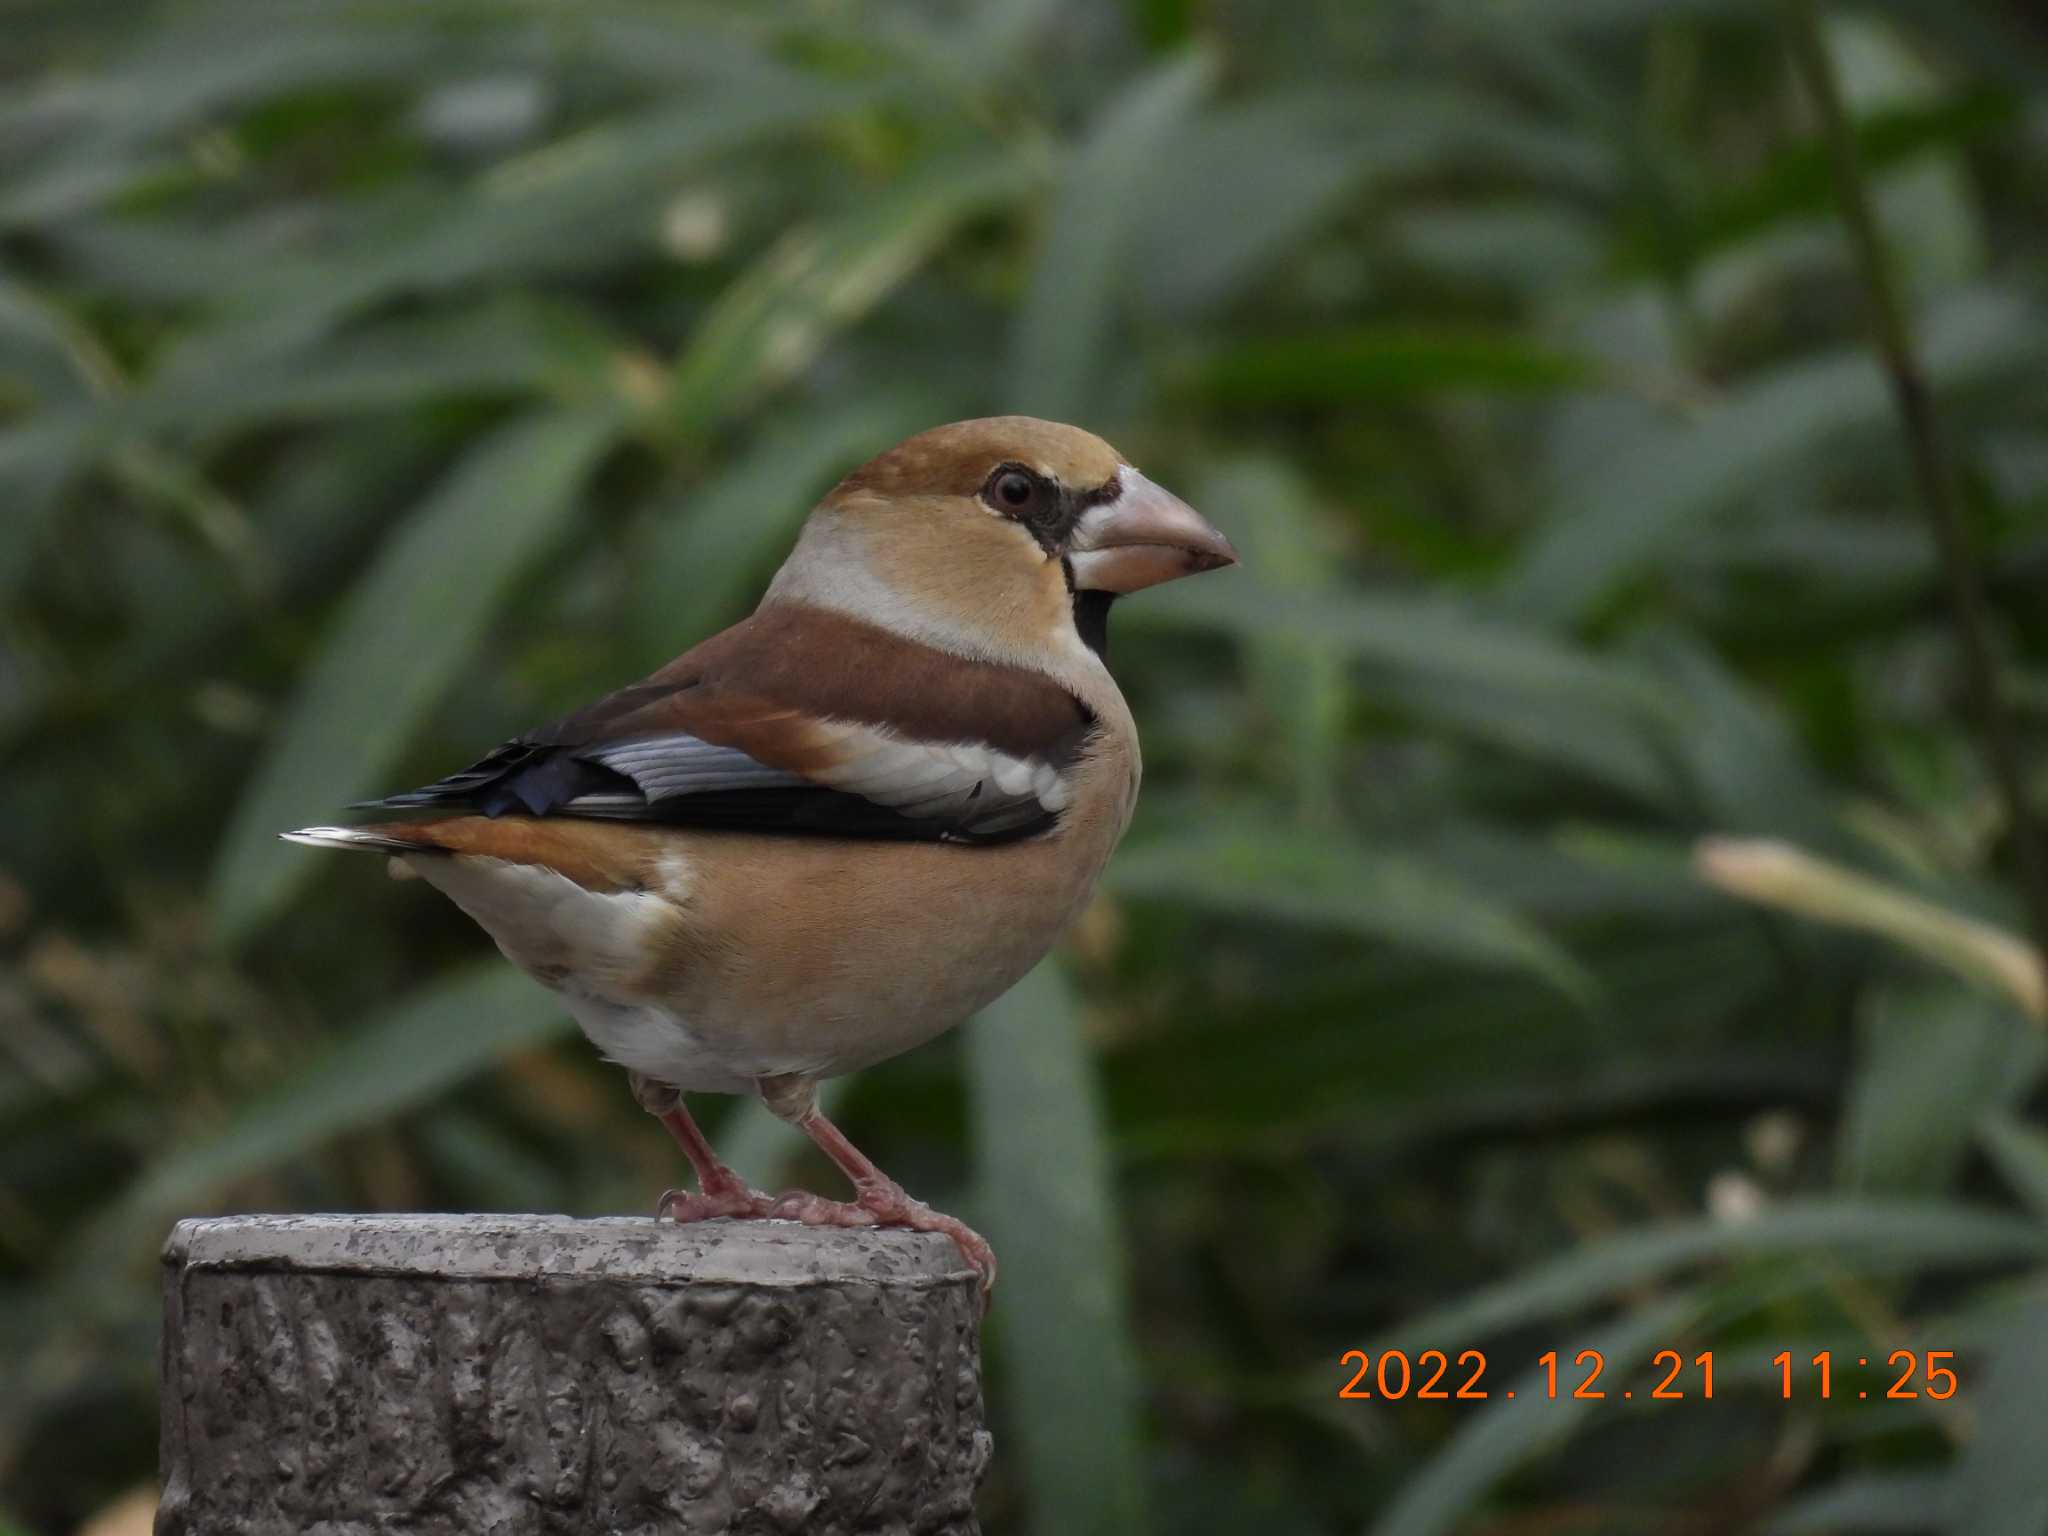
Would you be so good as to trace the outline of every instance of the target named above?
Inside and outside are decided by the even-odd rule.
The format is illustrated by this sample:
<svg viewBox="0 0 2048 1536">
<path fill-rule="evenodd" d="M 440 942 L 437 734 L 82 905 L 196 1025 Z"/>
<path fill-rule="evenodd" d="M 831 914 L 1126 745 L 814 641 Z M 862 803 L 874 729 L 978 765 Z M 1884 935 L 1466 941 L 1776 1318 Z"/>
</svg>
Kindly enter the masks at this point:
<svg viewBox="0 0 2048 1536">
<path fill-rule="evenodd" d="M 842 479 L 770 600 L 1028 659 L 1075 639 L 1100 653 L 1114 598 L 1235 561 L 1202 514 L 1092 432 L 987 416 L 905 438 Z"/>
</svg>

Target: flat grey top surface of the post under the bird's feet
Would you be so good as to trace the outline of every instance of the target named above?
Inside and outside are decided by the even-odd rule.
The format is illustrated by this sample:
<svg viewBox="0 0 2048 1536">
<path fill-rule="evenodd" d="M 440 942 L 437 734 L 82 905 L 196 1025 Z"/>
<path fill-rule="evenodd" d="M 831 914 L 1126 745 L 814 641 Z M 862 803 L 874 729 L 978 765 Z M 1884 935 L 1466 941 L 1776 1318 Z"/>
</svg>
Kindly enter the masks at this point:
<svg viewBox="0 0 2048 1536">
<path fill-rule="evenodd" d="M 795 1221 L 651 1217 L 209 1217 L 180 1221 L 164 1264 L 207 1270 L 319 1270 L 449 1280 L 600 1280 L 803 1286 L 928 1286 L 971 1280 L 936 1233 L 805 1227 Z"/>
</svg>

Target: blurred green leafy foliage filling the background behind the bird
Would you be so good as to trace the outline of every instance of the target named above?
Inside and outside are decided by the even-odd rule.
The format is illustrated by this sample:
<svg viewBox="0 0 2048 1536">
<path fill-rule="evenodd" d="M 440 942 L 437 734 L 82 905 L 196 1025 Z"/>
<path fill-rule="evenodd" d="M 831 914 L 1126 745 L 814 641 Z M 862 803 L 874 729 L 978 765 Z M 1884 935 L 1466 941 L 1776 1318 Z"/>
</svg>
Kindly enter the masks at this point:
<svg viewBox="0 0 2048 1536">
<path fill-rule="evenodd" d="M 840 1098 L 1008 1255 L 987 1528 L 2048 1530 L 2013 829 L 1778 10 L 0 33 L 0 1526 L 150 1477 L 172 1217 L 674 1171 L 453 907 L 272 834 L 664 662 L 850 463 L 1026 410 L 1247 561 L 1118 612 L 1147 795 L 1059 969 Z M 1827 45 L 2048 805 L 2048 29 Z M 1708 834 L 1827 862 L 1751 905 Z M 1380 1346 L 1495 1397 L 1337 1401 Z M 1712 1403 L 1642 1401 L 1667 1346 Z M 1552 1348 L 1608 1399 L 1505 1401 Z M 1821 1348 L 1962 1393 L 1784 1401 Z"/>
</svg>

